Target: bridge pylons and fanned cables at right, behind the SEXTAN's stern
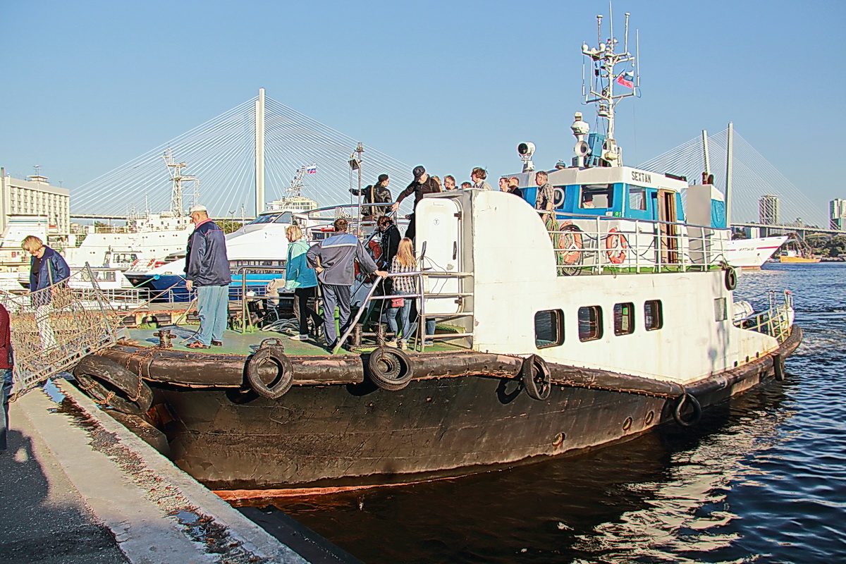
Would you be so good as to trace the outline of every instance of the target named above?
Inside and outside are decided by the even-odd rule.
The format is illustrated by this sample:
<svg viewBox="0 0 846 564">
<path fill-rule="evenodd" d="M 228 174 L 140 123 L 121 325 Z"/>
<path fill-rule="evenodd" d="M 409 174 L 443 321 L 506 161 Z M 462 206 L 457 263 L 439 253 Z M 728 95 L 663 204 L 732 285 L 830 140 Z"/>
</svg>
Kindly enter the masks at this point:
<svg viewBox="0 0 846 564">
<path fill-rule="evenodd" d="M 825 207 L 810 200 L 736 131 L 731 138 L 732 225 L 769 227 L 773 232 L 809 230 L 842 233 L 828 229 Z M 714 185 L 725 194 L 728 139 L 729 128 L 714 135 L 697 136 L 642 163 L 639 168 L 682 175 L 691 183 L 699 183 L 702 172 L 708 171 L 714 175 Z M 765 200 L 765 211 L 761 214 L 761 200 L 765 196 L 773 196 L 774 199 Z"/>
</svg>

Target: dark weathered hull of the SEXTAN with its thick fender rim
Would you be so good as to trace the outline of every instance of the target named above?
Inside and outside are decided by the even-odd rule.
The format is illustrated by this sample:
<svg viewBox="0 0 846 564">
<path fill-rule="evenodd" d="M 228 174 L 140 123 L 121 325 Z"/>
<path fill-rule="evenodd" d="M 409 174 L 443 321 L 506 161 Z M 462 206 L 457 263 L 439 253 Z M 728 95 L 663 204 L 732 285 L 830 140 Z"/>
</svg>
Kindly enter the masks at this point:
<svg viewBox="0 0 846 564">
<path fill-rule="evenodd" d="M 552 392 L 542 401 L 519 383 L 523 359 L 500 354 L 409 354 L 415 376 L 398 392 L 372 385 L 360 356 L 291 357 L 294 386 L 279 400 L 244 386 L 241 355 L 220 355 L 213 371 L 208 354 L 121 347 L 104 356 L 145 376 L 173 414 L 166 429 L 173 462 L 209 488 L 332 490 L 468 474 L 628 440 L 672 422 L 685 393 L 705 408 L 772 379 L 801 335 L 794 326 L 776 351 L 685 386 L 549 364 Z M 310 368 L 297 375 L 304 362 Z M 176 370 L 184 378 L 174 378 Z M 179 380 L 192 387 L 174 385 Z"/>
</svg>

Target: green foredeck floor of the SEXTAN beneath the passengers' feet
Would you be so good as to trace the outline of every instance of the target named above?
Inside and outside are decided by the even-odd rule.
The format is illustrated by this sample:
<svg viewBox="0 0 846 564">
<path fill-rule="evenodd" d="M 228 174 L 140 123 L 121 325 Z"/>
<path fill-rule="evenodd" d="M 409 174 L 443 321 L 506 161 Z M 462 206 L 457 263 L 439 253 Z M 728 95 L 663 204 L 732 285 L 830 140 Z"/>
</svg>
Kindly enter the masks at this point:
<svg viewBox="0 0 846 564">
<path fill-rule="evenodd" d="M 161 329 L 169 330 L 173 335 L 171 344 L 175 351 L 190 351 L 195 353 L 211 353 L 211 354 L 244 354 L 250 355 L 255 353 L 259 348 L 261 342 L 265 339 L 277 338 L 282 343 L 285 353 L 297 356 L 329 356 L 326 348 L 323 346 L 323 340 L 318 341 L 294 341 L 289 335 L 284 333 L 277 333 L 275 331 L 247 331 L 241 333 L 240 331 L 233 331 L 228 329 L 223 334 L 223 346 L 211 347 L 205 349 L 188 348 L 191 342 L 195 341 L 195 334 L 199 330 L 199 326 L 162 326 Z M 155 328 L 139 328 L 129 329 L 129 337 L 139 342 L 141 347 L 157 347 L 159 345 L 159 337 L 155 336 L 160 329 Z M 437 337 L 436 337 L 437 338 Z M 368 353 L 376 348 L 372 340 L 364 342 L 360 347 L 341 348 L 338 354 L 349 353 Z M 409 351 L 411 347 L 409 346 Z M 426 346 L 426 352 L 445 352 L 466 350 L 464 347 L 449 344 L 446 342 L 435 341 L 435 344 Z"/>
</svg>

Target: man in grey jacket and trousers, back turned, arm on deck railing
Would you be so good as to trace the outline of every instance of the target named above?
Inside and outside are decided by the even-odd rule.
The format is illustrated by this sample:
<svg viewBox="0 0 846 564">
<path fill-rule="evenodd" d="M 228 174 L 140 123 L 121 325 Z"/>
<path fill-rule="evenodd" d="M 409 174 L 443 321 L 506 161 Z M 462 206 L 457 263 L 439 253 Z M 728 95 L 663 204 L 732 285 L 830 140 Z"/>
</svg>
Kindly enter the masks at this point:
<svg viewBox="0 0 846 564">
<path fill-rule="evenodd" d="M 349 329 L 350 288 L 355 280 L 354 264 L 368 274 L 387 277 L 380 271 L 359 238 L 347 233 L 347 220 L 335 220 L 335 234 L 323 239 L 305 254 L 310 268 L 317 272 L 317 282 L 323 293 L 323 330 L 327 349 L 331 352 L 338 345 L 335 332 L 335 306 L 338 306 L 338 327 L 343 335 Z"/>
</svg>

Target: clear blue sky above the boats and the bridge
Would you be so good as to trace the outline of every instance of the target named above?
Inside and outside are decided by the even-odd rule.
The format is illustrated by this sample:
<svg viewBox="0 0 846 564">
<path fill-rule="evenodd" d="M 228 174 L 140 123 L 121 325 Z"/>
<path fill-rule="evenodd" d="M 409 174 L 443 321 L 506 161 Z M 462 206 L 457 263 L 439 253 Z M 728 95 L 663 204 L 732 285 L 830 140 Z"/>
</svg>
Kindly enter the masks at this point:
<svg viewBox="0 0 846 564">
<path fill-rule="evenodd" d="M 846 198 L 846 2 L 618 0 L 618 30 L 624 12 L 642 85 L 619 112 L 628 164 L 733 121 L 813 200 Z M 264 87 L 436 174 L 514 172 L 523 140 L 552 167 L 572 156 L 596 14 L 607 2 L 7 1 L 0 165 L 73 191 Z"/>
</svg>

